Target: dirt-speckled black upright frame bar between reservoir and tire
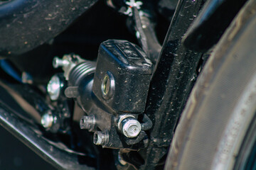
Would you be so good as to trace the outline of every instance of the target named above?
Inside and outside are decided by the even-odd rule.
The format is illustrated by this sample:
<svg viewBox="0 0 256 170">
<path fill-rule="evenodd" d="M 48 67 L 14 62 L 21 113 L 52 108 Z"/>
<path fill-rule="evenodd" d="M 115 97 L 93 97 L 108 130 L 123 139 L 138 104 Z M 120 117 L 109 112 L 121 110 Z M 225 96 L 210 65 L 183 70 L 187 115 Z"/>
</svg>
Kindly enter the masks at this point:
<svg viewBox="0 0 256 170">
<path fill-rule="evenodd" d="M 167 152 L 176 122 L 196 79 L 201 53 L 186 50 L 181 40 L 204 1 L 179 1 L 151 79 L 145 113 L 151 129 L 146 162 L 142 169 L 155 169 Z"/>
</svg>

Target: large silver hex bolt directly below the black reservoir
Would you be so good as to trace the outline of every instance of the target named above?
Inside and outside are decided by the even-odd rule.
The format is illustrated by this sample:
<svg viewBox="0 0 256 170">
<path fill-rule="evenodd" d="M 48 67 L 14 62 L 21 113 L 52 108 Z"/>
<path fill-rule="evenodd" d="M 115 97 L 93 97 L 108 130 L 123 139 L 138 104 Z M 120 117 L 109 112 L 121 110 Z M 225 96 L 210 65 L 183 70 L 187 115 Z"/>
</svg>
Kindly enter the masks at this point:
<svg viewBox="0 0 256 170">
<path fill-rule="evenodd" d="M 142 130 L 142 125 L 132 115 L 121 117 L 118 122 L 119 130 L 124 136 L 132 138 L 137 137 Z"/>
</svg>

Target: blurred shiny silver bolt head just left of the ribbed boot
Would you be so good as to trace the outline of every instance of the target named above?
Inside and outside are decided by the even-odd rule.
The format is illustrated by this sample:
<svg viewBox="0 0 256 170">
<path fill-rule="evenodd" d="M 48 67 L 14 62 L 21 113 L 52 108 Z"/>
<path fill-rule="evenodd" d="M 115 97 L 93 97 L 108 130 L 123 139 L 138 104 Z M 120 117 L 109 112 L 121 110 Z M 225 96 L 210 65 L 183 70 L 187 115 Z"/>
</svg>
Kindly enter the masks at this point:
<svg viewBox="0 0 256 170">
<path fill-rule="evenodd" d="M 50 99 L 55 101 L 58 99 L 58 97 L 60 96 L 60 89 L 61 88 L 61 82 L 60 82 L 60 78 L 56 75 L 54 75 L 48 85 L 47 85 L 47 91 L 48 94 L 50 95 Z"/>
</svg>

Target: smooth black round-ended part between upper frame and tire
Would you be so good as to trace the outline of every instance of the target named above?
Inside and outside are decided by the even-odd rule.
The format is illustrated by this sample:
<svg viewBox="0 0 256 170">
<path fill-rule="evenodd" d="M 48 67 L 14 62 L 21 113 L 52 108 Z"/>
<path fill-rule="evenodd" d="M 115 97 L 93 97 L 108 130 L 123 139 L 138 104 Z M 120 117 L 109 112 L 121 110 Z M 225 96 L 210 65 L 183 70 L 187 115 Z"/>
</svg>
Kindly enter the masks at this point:
<svg viewBox="0 0 256 170">
<path fill-rule="evenodd" d="M 193 26 L 183 39 L 183 44 L 191 50 L 206 52 L 220 40 L 240 8 L 247 0 L 210 0 L 203 7 Z"/>
</svg>

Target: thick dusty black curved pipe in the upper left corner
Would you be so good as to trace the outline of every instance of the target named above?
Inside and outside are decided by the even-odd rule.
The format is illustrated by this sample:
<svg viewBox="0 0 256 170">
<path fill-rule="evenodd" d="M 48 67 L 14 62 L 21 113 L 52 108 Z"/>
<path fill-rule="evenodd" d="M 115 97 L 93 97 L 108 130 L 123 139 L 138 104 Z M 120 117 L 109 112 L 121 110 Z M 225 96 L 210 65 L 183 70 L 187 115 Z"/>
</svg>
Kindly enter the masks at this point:
<svg viewBox="0 0 256 170">
<path fill-rule="evenodd" d="M 13 0 L 0 4 L 0 56 L 28 52 L 61 33 L 97 0 Z"/>
</svg>

